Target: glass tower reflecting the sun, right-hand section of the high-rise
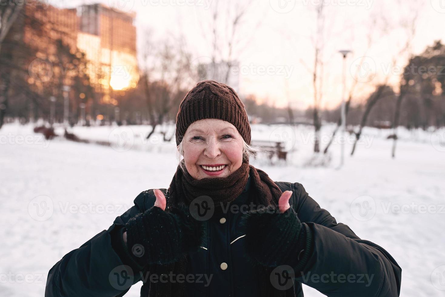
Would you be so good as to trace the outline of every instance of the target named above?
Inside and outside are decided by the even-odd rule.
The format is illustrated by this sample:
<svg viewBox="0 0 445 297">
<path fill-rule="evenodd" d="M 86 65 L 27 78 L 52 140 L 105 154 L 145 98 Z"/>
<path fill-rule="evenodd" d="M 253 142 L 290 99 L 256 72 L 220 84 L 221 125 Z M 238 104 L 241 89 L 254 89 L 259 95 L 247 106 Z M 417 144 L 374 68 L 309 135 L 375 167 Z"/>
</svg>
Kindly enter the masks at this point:
<svg viewBox="0 0 445 297">
<path fill-rule="evenodd" d="M 135 14 L 104 4 L 83 5 L 78 11 L 77 47 L 91 62 L 90 77 L 104 93 L 102 102 L 117 104 L 113 91 L 134 88 L 139 80 Z"/>
</svg>

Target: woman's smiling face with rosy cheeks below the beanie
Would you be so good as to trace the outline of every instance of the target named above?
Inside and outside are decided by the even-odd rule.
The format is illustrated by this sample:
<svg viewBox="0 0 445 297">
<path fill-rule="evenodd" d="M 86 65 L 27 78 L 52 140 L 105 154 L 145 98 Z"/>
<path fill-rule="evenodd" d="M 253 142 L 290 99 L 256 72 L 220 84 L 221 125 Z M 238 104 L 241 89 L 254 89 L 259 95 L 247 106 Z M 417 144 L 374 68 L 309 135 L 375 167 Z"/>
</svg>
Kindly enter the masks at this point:
<svg viewBox="0 0 445 297">
<path fill-rule="evenodd" d="M 227 177 L 243 163 L 243 137 L 234 125 L 225 120 L 193 122 L 182 142 L 184 163 L 196 180 Z"/>
</svg>

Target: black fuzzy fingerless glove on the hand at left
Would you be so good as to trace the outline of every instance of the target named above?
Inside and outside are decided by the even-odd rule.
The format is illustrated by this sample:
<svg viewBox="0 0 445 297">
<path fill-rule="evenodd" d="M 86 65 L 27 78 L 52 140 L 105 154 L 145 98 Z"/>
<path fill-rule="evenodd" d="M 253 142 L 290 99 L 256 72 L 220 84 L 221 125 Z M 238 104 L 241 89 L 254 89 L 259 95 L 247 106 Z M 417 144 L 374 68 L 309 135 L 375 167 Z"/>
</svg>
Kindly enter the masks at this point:
<svg viewBox="0 0 445 297">
<path fill-rule="evenodd" d="M 131 218 L 125 225 L 127 248 L 142 265 L 169 264 L 199 249 L 203 222 L 195 220 L 187 207 L 168 212 L 153 206 Z"/>
</svg>

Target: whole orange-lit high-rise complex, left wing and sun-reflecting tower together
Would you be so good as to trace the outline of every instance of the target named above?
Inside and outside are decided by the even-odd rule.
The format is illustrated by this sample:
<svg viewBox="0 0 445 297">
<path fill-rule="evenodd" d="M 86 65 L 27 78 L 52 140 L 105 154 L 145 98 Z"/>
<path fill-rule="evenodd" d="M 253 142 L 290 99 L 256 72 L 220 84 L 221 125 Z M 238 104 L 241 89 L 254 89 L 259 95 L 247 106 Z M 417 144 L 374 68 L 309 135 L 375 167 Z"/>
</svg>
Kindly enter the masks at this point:
<svg viewBox="0 0 445 297">
<path fill-rule="evenodd" d="M 89 75 L 96 92 L 102 94 L 100 103 L 117 105 L 118 95 L 135 88 L 139 80 L 134 18 L 134 13 L 104 4 L 70 9 L 25 5 L 20 35 L 25 44 L 38 49 L 39 58 L 57 54 L 55 43 L 49 40 L 61 39 L 73 53 L 84 52 L 88 64 L 79 70 Z M 29 20 L 44 24 L 48 33 L 36 32 Z M 68 76 L 65 80 L 64 84 L 71 84 Z"/>
</svg>

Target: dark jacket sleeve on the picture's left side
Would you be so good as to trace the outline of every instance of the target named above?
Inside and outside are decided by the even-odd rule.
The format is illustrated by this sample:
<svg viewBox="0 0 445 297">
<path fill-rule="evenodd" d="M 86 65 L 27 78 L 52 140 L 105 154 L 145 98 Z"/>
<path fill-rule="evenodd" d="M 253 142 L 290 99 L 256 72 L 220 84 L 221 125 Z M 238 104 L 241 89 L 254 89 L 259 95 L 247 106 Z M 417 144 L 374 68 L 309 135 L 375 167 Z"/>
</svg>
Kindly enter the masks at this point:
<svg viewBox="0 0 445 297">
<path fill-rule="evenodd" d="M 117 242 L 115 237 L 121 236 L 125 223 L 145 209 L 146 192 L 140 193 L 135 205 L 116 217 L 108 230 L 67 253 L 49 270 L 45 297 L 121 297 L 141 280 L 142 269 L 134 266 L 112 241 Z"/>
</svg>

